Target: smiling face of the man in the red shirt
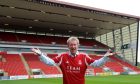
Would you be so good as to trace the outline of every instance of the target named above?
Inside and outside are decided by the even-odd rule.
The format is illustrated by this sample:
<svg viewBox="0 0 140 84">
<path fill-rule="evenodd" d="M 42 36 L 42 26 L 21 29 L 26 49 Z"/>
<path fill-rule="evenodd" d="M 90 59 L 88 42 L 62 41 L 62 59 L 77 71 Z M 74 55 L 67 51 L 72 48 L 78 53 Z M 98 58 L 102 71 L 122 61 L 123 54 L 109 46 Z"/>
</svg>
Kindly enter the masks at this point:
<svg viewBox="0 0 140 84">
<path fill-rule="evenodd" d="M 76 54 L 77 50 L 78 50 L 78 46 L 79 44 L 77 43 L 76 40 L 72 40 L 68 43 L 68 47 L 69 47 L 69 50 L 71 52 L 71 54 Z"/>
</svg>

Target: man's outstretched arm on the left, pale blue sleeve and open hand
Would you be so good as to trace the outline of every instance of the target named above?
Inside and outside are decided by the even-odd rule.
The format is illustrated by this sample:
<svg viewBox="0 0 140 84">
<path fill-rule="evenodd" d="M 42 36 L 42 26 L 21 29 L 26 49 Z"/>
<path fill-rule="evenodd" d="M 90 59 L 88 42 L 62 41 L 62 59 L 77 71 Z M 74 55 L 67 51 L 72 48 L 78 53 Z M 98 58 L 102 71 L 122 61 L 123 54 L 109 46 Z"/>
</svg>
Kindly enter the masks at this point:
<svg viewBox="0 0 140 84">
<path fill-rule="evenodd" d="M 55 66 L 54 60 L 49 58 L 48 56 L 45 56 L 38 48 L 32 48 L 31 49 L 35 54 L 39 55 L 39 58 L 41 61 L 43 61 L 45 64 L 50 66 Z"/>
</svg>

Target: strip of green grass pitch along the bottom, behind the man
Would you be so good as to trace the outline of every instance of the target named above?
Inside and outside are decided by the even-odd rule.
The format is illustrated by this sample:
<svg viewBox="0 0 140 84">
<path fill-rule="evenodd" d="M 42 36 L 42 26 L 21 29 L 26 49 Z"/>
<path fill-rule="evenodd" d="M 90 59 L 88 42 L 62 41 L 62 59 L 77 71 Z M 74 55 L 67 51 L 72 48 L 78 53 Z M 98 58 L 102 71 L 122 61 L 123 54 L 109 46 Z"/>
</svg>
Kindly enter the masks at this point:
<svg viewBox="0 0 140 84">
<path fill-rule="evenodd" d="M 0 84 L 62 84 L 62 78 L 1 80 Z M 86 77 L 86 84 L 140 84 L 140 75 Z"/>
</svg>

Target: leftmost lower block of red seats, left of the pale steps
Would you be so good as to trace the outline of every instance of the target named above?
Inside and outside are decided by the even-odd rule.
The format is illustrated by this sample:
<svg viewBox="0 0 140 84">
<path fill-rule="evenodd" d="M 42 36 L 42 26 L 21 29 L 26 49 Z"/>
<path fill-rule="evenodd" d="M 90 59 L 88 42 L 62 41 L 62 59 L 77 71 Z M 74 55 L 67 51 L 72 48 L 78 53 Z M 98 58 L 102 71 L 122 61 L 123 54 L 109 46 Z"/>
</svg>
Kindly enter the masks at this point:
<svg viewBox="0 0 140 84">
<path fill-rule="evenodd" d="M 9 76 L 27 75 L 19 54 L 4 54 L 1 56 L 2 58 L 5 58 L 5 61 L 1 62 L 0 69 L 7 72 Z"/>
</svg>

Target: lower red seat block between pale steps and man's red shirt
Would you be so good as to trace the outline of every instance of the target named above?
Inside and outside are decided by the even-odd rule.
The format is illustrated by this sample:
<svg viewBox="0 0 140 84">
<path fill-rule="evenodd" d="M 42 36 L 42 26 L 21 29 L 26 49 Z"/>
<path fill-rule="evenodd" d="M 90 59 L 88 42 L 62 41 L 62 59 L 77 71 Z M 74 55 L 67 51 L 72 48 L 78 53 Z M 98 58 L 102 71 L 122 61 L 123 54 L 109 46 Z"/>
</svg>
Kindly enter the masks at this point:
<svg viewBox="0 0 140 84">
<path fill-rule="evenodd" d="M 48 66 L 41 62 L 37 55 L 33 53 L 22 53 L 25 60 L 27 61 L 30 69 L 41 69 L 42 74 L 60 74 L 56 67 Z"/>
</svg>

